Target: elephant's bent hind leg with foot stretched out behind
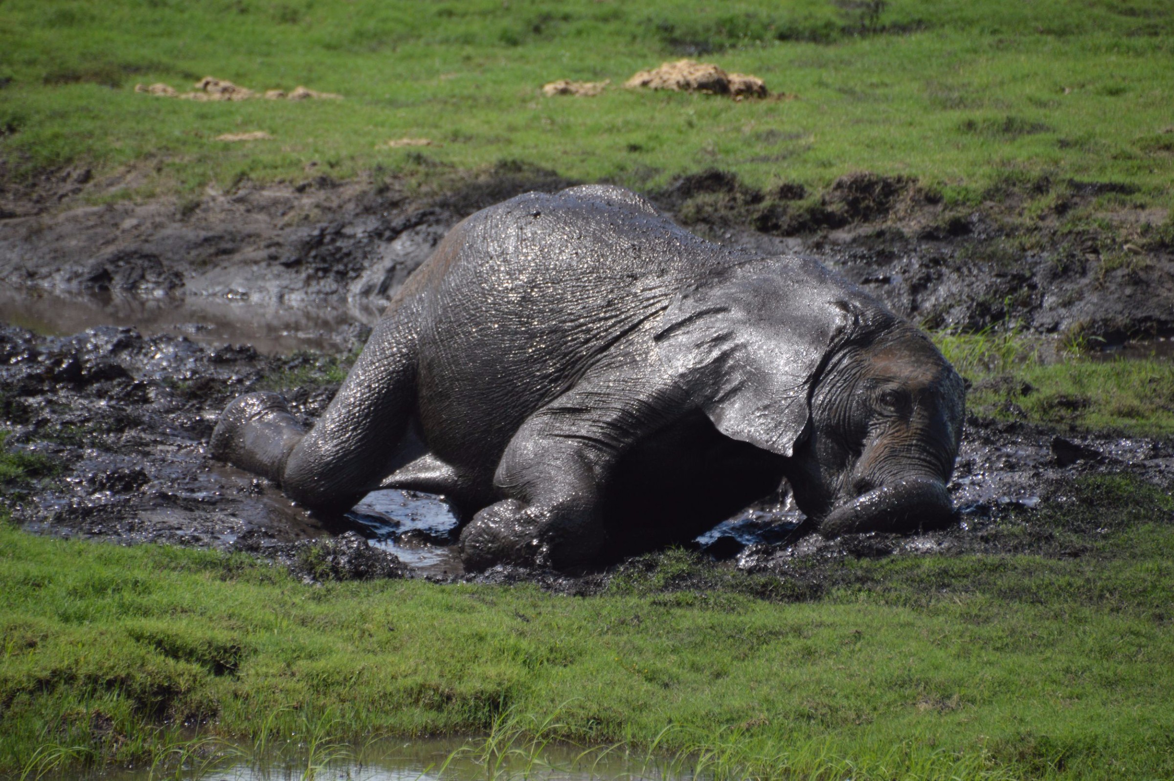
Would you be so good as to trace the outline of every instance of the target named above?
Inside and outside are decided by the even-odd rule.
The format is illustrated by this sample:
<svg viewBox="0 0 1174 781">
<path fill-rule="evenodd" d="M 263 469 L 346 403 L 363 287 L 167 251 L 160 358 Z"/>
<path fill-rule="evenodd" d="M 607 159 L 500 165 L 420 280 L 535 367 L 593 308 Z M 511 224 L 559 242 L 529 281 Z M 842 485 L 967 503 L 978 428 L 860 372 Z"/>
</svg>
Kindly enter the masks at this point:
<svg viewBox="0 0 1174 781">
<path fill-rule="evenodd" d="M 384 318 L 309 432 L 276 393 L 250 393 L 221 417 L 212 455 L 277 480 L 285 496 L 308 507 L 349 510 L 386 477 L 407 427 L 416 344 L 407 317 Z"/>
</svg>

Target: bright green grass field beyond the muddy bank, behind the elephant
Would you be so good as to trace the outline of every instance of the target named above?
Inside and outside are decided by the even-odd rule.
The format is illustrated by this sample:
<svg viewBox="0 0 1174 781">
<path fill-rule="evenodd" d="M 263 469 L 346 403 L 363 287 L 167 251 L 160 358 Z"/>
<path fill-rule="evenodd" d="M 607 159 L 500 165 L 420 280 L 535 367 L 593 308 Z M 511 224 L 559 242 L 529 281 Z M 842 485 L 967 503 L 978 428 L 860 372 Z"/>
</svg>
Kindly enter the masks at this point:
<svg viewBox="0 0 1174 781">
<path fill-rule="evenodd" d="M 1040 177 L 1125 182 L 1140 188 L 1126 203 L 1174 202 L 1169 4 L 882 5 L 870 18 L 826 0 L 6 0 L 0 156 L 9 174 L 134 167 L 112 197 L 366 170 L 429 181 L 524 160 L 642 188 L 718 167 L 755 187 L 818 190 L 868 169 L 919 177 L 947 202 Z M 619 88 L 689 53 L 798 97 Z M 154 81 L 185 89 L 207 74 L 345 100 L 133 92 Z M 614 88 L 542 97 L 558 78 Z M 214 140 L 242 130 L 275 137 Z M 376 148 L 404 136 L 434 146 Z"/>
</svg>

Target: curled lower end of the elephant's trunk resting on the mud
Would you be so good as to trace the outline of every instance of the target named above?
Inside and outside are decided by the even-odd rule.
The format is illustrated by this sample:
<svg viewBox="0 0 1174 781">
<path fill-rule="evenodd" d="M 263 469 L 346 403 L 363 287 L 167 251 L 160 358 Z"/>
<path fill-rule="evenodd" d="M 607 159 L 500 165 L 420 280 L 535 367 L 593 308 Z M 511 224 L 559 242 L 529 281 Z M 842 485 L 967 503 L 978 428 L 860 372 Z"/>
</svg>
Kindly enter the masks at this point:
<svg viewBox="0 0 1174 781">
<path fill-rule="evenodd" d="M 873 489 L 836 507 L 819 521 L 819 533 L 838 537 L 861 532 L 909 532 L 938 528 L 953 516 L 953 503 L 940 479 L 909 477 Z"/>
</svg>

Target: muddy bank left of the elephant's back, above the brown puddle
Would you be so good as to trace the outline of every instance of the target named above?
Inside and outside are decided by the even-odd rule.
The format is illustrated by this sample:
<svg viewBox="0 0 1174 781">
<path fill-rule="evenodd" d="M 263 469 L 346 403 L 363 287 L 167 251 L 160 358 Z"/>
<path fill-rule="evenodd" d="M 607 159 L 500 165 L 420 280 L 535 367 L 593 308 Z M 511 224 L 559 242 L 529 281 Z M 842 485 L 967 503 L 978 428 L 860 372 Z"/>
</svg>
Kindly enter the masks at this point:
<svg viewBox="0 0 1174 781">
<path fill-rule="evenodd" d="M 568 184 L 510 166 L 457 179 L 434 195 L 409 194 L 397 180 L 319 176 L 298 186 L 80 207 L 70 204 L 130 182 L 94 182 L 77 170 L 5 183 L 0 283 L 168 307 L 212 299 L 329 309 L 370 323 L 463 217 L 519 193 Z"/>
</svg>

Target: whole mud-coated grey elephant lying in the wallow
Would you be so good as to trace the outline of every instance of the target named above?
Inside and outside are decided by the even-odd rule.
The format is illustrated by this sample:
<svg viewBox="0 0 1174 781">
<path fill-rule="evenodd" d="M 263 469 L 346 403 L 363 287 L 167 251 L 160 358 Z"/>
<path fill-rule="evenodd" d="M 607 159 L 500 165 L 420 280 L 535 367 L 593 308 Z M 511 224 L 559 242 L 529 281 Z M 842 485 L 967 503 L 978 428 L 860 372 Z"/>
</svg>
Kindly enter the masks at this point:
<svg viewBox="0 0 1174 781">
<path fill-rule="evenodd" d="M 466 218 L 311 430 L 249 393 L 211 452 L 328 513 L 443 493 L 468 570 L 566 570 L 689 540 L 784 482 L 829 536 L 947 523 L 964 395 L 924 334 L 815 261 L 587 186 Z"/>
</svg>

